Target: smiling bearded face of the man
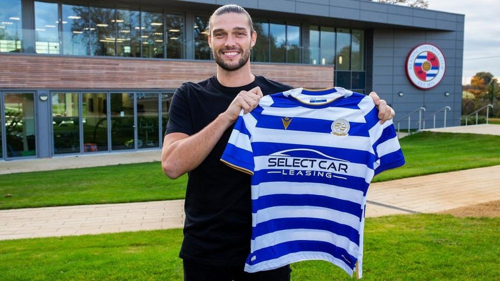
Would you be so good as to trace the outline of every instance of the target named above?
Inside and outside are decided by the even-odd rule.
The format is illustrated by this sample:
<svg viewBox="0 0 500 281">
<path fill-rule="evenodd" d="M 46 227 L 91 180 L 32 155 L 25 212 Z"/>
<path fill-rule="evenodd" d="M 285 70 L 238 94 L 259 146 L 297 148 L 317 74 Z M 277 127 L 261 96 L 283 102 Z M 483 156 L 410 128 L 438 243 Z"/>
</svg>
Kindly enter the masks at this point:
<svg viewBox="0 0 500 281">
<path fill-rule="evenodd" d="M 256 33 L 250 31 L 248 19 L 242 13 L 213 16 L 208 44 L 215 62 L 228 71 L 241 68 L 250 58 Z"/>
</svg>

